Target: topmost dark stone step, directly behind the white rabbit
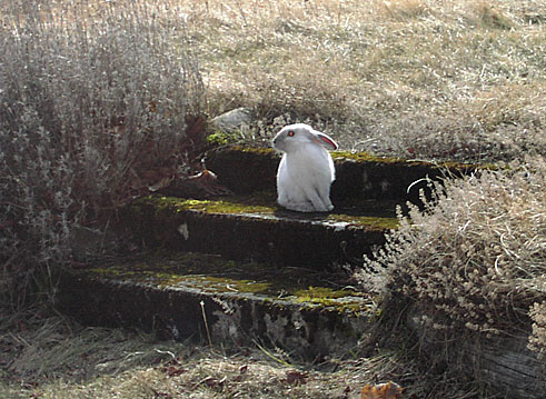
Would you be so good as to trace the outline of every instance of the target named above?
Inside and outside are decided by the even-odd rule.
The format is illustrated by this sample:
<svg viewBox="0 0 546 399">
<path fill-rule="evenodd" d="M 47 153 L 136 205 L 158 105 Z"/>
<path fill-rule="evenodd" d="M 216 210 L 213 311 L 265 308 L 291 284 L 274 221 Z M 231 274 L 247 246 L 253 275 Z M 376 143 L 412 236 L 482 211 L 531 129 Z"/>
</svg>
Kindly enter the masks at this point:
<svg viewBox="0 0 546 399">
<path fill-rule="evenodd" d="M 336 181 L 331 198 L 336 201 L 396 200 L 419 202 L 419 189 L 426 189 L 426 178 L 460 177 L 478 168 L 456 162 L 427 162 L 399 158 L 374 157 L 367 153 L 331 152 Z M 267 148 L 231 147 L 210 151 L 205 160 L 220 181 L 234 192 L 248 194 L 275 191 L 280 154 Z"/>
</svg>

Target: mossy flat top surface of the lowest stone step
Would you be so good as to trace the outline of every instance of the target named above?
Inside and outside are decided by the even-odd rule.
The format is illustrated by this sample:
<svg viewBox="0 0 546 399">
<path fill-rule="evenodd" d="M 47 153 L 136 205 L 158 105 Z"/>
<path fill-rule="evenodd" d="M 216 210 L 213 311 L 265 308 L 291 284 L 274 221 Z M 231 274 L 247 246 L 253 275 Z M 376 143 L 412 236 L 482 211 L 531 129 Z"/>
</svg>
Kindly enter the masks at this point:
<svg viewBox="0 0 546 399">
<path fill-rule="evenodd" d="M 365 293 L 339 289 L 340 272 L 271 268 L 260 263 L 226 261 L 216 256 L 148 255 L 138 260 L 120 260 L 83 271 L 89 277 L 150 286 L 157 289 L 189 289 L 222 296 L 254 295 L 262 300 L 325 306 L 338 311 L 358 312 L 369 301 Z"/>
</svg>

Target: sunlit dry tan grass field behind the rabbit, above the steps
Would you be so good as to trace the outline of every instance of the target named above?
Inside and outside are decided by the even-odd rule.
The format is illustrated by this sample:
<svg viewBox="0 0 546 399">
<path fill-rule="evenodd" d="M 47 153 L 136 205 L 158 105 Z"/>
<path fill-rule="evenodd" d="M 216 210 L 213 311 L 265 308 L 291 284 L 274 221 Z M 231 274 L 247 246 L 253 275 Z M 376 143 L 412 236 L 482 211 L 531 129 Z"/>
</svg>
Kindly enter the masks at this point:
<svg viewBox="0 0 546 399">
<path fill-rule="evenodd" d="M 181 4 L 212 116 L 249 107 L 413 158 L 546 153 L 539 1 Z"/>
</svg>

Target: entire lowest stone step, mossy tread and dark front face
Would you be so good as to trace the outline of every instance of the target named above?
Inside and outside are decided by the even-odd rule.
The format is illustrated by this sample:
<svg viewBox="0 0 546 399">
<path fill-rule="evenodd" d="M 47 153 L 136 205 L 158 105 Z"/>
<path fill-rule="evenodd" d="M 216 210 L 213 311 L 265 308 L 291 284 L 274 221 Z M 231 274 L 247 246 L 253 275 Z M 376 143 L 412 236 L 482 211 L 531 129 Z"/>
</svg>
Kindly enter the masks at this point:
<svg viewBox="0 0 546 399">
<path fill-rule="evenodd" d="M 369 329 L 374 298 L 343 270 L 275 268 L 199 253 L 142 255 L 63 273 L 59 308 L 87 325 L 159 338 L 278 347 L 314 359 L 348 353 Z"/>
</svg>

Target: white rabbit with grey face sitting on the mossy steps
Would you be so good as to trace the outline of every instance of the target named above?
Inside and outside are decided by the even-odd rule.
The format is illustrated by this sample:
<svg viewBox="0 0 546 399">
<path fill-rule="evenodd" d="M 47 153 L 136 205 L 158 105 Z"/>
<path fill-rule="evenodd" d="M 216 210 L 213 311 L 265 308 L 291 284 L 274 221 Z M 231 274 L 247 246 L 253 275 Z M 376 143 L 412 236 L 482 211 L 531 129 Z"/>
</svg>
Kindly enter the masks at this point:
<svg viewBox="0 0 546 399">
<path fill-rule="evenodd" d="M 336 150 L 336 141 L 308 124 L 296 123 L 282 128 L 272 146 L 284 152 L 277 172 L 277 202 L 299 212 L 332 210 L 330 186 L 336 169 L 327 148 Z"/>
</svg>

